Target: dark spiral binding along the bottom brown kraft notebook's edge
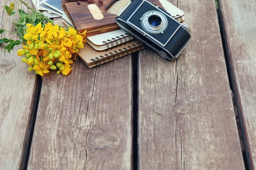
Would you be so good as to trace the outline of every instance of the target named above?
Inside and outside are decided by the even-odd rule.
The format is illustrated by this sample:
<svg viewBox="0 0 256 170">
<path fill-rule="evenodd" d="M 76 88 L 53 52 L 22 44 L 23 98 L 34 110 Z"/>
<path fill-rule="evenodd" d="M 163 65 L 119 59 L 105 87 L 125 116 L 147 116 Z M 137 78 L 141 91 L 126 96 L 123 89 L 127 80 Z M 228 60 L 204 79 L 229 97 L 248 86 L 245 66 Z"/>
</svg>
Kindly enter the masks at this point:
<svg viewBox="0 0 256 170">
<path fill-rule="evenodd" d="M 95 57 L 94 59 L 90 59 L 95 63 L 96 66 L 104 64 L 106 62 L 110 62 L 111 60 L 118 59 L 120 57 L 124 57 L 125 55 L 131 54 L 135 51 L 138 51 L 138 48 L 142 50 L 143 44 L 137 42 L 136 44 L 129 45 L 124 48 L 119 48 L 113 52 L 109 52 L 108 54 L 101 55 L 99 57 Z"/>
</svg>

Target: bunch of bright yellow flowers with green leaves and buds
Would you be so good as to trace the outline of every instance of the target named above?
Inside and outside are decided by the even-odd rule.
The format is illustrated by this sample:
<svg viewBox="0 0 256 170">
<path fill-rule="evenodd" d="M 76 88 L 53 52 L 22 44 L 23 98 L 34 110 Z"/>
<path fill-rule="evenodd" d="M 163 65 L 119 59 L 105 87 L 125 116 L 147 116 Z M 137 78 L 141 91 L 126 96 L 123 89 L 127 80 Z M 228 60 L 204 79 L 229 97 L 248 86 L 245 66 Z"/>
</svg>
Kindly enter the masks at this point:
<svg viewBox="0 0 256 170">
<path fill-rule="evenodd" d="M 23 1 L 20 2 L 27 6 Z M 12 10 L 13 6 L 13 4 L 10 5 Z M 5 8 L 8 7 L 5 6 Z M 5 48 L 8 52 L 13 49 L 14 45 L 22 44 L 23 48 L 17 51 L 17 55 L 23 56 L 21 61 L 29 65 L 28 71 L 34 70 L 35 74 L 43 77 L 49 73 L 49 70 L 57 69 L 57 74 L 68 75 L 72 70 L 70 64 L 77 58 L 79 48 L 84 48 L 86 31 L 80 33 L 72 27 L 64 29 L 53 25 L 52 20 L 35 10 L 30 15 L 19 10 L 19 14 L 20 20 L 14 24 L 23 42 L 4 38 L 0 40 L 0 43 L 9 42 Z M 1 29 L 0 33 L 3 31 L 6 30 Z"/>
</svg>

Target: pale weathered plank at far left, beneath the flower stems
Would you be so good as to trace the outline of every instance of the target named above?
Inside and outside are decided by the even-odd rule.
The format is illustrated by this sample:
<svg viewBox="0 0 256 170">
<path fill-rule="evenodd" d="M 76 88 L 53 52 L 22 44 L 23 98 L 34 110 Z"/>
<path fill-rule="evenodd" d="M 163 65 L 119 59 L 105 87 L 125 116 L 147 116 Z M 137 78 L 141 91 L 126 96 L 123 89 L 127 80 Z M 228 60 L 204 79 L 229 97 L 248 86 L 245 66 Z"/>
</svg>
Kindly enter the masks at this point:
<svg viewBox="0 0 256 170">
<path fill-rule="evenodd" d="M 18 0 L 5 0 L 0 3 L 0 28 L 15 31 L 12 22 L 18 20 L 18 13 L 9 16 L 4 10 Z M 32 2 L 29 2 L 32 6 Z M 26 11 L 26 9 L 24 8 Z M 18 40 L 17 34 L 3 32 L 0 39 Z M 36 76 L 27 71 L 28 66 L 21 62 L 16 46 L 11 54 L 4 50 L 7 44 L 0 45 L 0 169 L 17 170 L 22 164 L 32 106 L 35 96 Z"/>
</svg>

